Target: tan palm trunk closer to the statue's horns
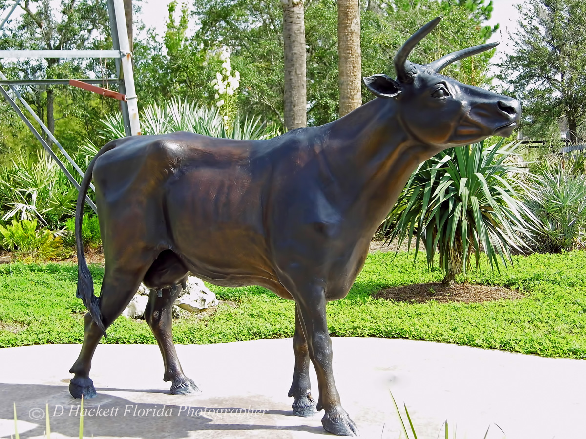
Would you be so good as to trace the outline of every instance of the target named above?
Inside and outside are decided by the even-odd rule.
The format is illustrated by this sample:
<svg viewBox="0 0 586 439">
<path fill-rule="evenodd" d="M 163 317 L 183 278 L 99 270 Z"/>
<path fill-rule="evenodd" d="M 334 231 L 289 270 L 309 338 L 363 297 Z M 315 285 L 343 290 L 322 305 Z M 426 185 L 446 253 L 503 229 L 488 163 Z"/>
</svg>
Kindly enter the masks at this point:
<svg viewBox="0 0 586 439">
<path fill-rule="evenodd" d="M 338 72 L 341 117 L 362 105 L 358 0 L 338 0 Z"/>
</svg>

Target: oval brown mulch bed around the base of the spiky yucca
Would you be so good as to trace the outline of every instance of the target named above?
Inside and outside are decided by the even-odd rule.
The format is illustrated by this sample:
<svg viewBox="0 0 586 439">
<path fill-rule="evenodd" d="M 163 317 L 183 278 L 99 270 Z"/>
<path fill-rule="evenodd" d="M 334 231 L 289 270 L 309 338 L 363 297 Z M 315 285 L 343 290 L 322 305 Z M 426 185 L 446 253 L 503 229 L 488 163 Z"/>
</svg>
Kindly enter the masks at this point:
<svg viewBox="0 0 586 439">
<path fill-rule="evenodd" d="M 499 299 L 521 299 L 523 294 L 504 287 L 486 285 L 455 284 L 453 287 L 445 287 L 441 283 L 418 283 L 386 288 L 373 297 L 408 303 L 425 303 L 430 300 L 438 303 L 483 303 Z"/>
</svg>

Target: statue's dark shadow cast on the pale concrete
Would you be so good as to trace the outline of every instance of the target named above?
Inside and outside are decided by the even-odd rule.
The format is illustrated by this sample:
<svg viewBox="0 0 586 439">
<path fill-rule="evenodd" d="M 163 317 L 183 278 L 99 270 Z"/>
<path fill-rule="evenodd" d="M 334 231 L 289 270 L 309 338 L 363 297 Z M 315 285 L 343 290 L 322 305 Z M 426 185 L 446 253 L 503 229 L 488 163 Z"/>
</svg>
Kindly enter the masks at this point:
<svg viewBox="0 0 586 439">
<path fill-rule="evenodd" d="M 268 410 L 263 404 L 251 407 L 203 407 L 176 404 L 137 403 L 103 392 L 137 392 L 127 389 L 97 389 L 98 396 L 84 400 L 84 437 L 140 437 L 142 439 L 179 439 L 191 431 L 290 430 L 328 434 L 321 426 L 291 422 L 291 411 Z M 99 393 L 100 390 L 102 393 Z M 148 392 L 142 390 L 142 392 Z M 154 392 L 159 393 L 160 390 Z M 170 397 L 170 395 L 162 394 Z M 13 404 L 19 423 L 25 421 L 23 439 L 38 437 L 45 432 L 45 408 L 49 404 L 52 433 L 79 436 L 81 401 L 69 395 L 67 386 L 0 383 L 0 419 L 13 419 Z M 186 400 L 186 403 L 189 401 Z M 278 422 L 280 416 L 285 417 Z M 294 417 L 303 422 L 302 418 Z M 287 420 L 289 420 L 287 422 Z M 285 421 L 285 422 L 283 422 Z M 32 426 L 31 426 L 32 424 Z M 287 425 L 292 424 L 292 425 Z M 36 427 L 35 427 L 36 425 Z M 9 437 L 14 431 L 0 431 Z"/>
</svg>

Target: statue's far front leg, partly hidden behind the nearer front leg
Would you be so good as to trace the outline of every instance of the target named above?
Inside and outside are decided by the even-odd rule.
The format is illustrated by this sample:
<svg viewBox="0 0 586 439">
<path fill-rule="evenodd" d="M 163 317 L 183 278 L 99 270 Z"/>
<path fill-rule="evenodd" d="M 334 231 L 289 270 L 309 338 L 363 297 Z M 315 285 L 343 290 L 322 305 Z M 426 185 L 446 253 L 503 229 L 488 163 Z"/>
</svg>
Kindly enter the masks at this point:
<svg viewBox="0 0 586 439">
<path fill-rule="evenodd" d="M 311 396 L 311 383 L 309 383 L 309 351 L 301 320 L 299 320 L 297 304 L 295 304 L 293 351 L 295 352 L 295 369 L 293 383 L 288 393 L 288 396 L 295 397 L 291 406 L 293 414 L 295 416 L 313 416 L 317 411 L 315 410 L 315 400 Z"/>
</svg>

